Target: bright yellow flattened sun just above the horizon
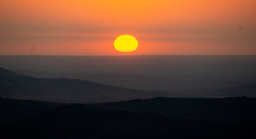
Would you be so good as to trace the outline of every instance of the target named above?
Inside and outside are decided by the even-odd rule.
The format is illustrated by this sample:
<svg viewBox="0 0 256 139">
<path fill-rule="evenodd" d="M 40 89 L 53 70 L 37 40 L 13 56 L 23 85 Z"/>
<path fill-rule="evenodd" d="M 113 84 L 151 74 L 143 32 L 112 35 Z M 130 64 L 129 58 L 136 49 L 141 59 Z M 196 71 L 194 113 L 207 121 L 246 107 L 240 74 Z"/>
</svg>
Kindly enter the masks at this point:
<svg viewBox="0 0 256 139">
<path fill-rule="evenodd" d="M 120 52 L 133 52 L 138 47 L 138 41 L 134 36 L 121 35 L 115 39 L 114 46 Z"/>
</svg>

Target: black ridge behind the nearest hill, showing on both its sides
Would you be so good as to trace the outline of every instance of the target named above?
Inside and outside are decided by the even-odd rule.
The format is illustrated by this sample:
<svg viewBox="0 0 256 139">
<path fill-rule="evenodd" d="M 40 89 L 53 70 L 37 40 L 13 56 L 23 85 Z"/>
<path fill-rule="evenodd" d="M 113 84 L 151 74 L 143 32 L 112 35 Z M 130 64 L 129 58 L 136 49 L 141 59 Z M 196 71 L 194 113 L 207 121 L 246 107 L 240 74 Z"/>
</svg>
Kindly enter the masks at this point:
<svg viewBox="0 0 256 139">
<path fill-rule="evenodd" d="M 0 123 L 15 122 L 28 118 L 46 109 L 55 108 L 62 103 L 49 103 L 32 100 L 12 100 L 0 98 Z M 136 113 L 157 112 L 175 119 L 195 119 L 225 122 L 256 122 L 256 98 L 164 98 L 147 100 L 136 99 L 116 103 L 83 104 L 86 107 L 122 110 Z"/>
</svg>

